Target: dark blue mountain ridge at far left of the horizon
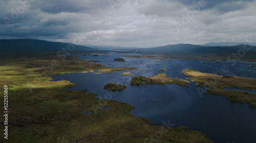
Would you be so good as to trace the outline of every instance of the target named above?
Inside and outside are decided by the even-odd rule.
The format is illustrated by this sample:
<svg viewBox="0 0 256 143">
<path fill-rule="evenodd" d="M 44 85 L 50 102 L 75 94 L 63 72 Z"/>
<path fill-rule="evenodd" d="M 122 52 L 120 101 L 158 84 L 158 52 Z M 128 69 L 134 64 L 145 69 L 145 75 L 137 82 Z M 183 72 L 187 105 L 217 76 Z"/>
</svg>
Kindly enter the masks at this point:
<svg viewBox="0 0 256 143">
<path fill-rule="evenodd" d="M 98 50 L 86 46 L 75 45 L 72 43 L 49 42 L 35 39 L 0 40 L 0 52 L 45 52 L 59 50 L 62 51 L 62 48 L 69 48 L 71 50 L 74 49 L 76 51 Z"/>
</svg>

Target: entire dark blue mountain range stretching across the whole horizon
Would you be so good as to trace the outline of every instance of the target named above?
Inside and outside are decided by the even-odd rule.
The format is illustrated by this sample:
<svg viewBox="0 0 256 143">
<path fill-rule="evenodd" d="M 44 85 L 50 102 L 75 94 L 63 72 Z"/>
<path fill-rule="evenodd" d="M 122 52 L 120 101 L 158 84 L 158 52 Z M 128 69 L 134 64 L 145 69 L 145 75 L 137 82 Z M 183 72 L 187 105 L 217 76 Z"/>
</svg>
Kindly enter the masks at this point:
<svg viewBox="0 0 256 143">
<path fill-rule="evenodd" d="M 205 45 L 192 45 L 192 44 L 175 44 L 166 45 L 155 48 L 136 48 L 136 47 L 124 47 L 122 46 L 81 46 L 72 43 L 60 43 L 60 42 L 49 42 L 44 40 L 35 39 L 15 39 L 15 40 L 0 40 L 0 52 L 46 52 L 46 51 L 62 51 L 62 48 L 67 49 L 68 47 L 72 49 L 75 47 L 76 51 L 105 51 L 102 49 L 115 49 L 123 50 L 127 53 L 137 52 L 137 53 L 237 53 L 239 49 L 243 49 L 244 46 L 248 48 L 250 45 L 234 45 L 234 46 L 206 46 L 206 45 L 221 45 L 221 44 L 236 44 L 234 42 L 220 42 L 220 43 L 207 43 Z M 252 44 L 252 43 L 251 43 Z M 72 45 L 72 46 L 71 46 Z M 118 48 L 119 47 L 119 48 Z M 246 52 L 255 52 L 256 46 L 250 46 L 250 50 Z"/>
</svg>

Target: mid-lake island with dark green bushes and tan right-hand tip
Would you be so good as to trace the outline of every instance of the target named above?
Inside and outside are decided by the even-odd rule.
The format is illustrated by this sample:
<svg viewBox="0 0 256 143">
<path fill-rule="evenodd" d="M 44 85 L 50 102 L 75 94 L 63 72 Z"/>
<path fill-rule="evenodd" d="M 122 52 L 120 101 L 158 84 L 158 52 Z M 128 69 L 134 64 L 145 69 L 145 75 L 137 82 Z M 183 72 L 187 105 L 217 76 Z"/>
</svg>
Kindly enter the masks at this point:
<svg viewBox="0 0 256 143">
<path fill-rule="evenodd" d="M 166 77 L 166 74 L 159 73 L 157 75 L 151 77 L 145 76 L 132 76 L 132 80 L 130 83 L 132 85 L 140 85 L 140 84 L 178 84 L 181 87 L 186 87 L 186 83 L 190 83 L 187 80 L 179 79 L 179 78 L 170 78 Z"/>
</svg>

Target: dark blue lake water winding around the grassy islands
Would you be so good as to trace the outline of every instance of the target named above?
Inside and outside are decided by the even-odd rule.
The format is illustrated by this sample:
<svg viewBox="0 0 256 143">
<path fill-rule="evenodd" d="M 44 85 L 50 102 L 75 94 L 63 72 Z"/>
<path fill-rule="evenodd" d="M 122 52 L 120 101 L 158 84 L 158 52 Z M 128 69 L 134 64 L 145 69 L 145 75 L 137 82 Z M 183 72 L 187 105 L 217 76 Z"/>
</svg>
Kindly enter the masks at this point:
<svg viewBox="0 0 256 143">
<path fill-rule="evenodd" d="M 243 64 L 232 65 L 228 62 L 215 63 L 215 61 L 209 61 L 210 64 L 203 64 L 203 61 L 155 61 L 154 59 L 126 57 L 123 57 L 126 62 L 113 61 L 114 58 L 120 58 L 118 55 L 122 54 L 111 53 L 111 56 L 86 55 L 79 56 L 79 58 L 101 61 L 96 64 L 107 67 L 136 67 L 138 70 L 143 70 L 128 71 L 131 75 L 153 76 L 157 73 L 165 73 L 168 77 L 185 79 L 188 77 L 182 74 L 182 70 L 191 68 L 200 72 L 219 75 L 256 78 L 255 69 Z M 161 68 L 167 71 L 161 71 Z M 220 69 L 225 69 L 225 71 Z M 76 83 L 75 87 L 69 90 L 87 89 L 88 92 L 98 94 L 97 98 L 129 103 L 135 106 L 130 112 L 132 115 L 146 118 L 153 125 L 163 125 L 163 121 L 167 123 L 169 120 L 169 123 L 174 124 L 174 127 L 184 125 L 193 130 L 201 131 L 214 142 L 255 142 L 256 109 L 248 107 L 248 104 L 235 103 L 217 95 L 203 94 L 200 96 L 197 91 L 198 87 L 194 86 L 194 82 L 186 84 L 188 88 L 178 87 L 176 84 L 130 85 L 131 75 L 123 76 L 121 73 L 122 71 L 102 74 L 92 72 L 63 74 L 55 76 L 53 80 L 64 79 Z M 108 82 L 124 83 L 127 89 L 109 92 L 103 89 Z M 93 110 L 90 112 L 94 113 Z"/>
</svg>

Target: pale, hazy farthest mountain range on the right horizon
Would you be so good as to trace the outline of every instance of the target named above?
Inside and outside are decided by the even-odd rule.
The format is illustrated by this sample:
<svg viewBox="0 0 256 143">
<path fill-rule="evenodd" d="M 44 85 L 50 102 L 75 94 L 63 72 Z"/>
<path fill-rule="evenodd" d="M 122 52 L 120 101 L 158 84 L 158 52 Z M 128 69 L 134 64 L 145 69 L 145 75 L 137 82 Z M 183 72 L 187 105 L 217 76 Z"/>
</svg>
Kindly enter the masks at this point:
<svg viewBox="0 0 256 143">
<path fill-rule="evenodd" d="M 256 46 L 256 42 L 210 42 L 206 43 L 203 46 L 236 46 L 236 45 L 252 45 Z"/>
</svg>

